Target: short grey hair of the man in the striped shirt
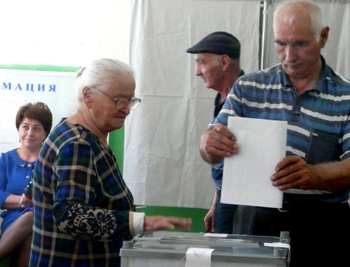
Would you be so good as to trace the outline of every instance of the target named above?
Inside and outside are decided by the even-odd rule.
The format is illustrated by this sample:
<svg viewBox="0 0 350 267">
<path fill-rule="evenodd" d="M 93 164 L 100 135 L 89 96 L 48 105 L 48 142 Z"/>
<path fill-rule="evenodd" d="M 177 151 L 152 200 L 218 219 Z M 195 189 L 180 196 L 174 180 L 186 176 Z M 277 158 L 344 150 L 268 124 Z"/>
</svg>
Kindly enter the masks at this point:
<svg viewBox="0 0 350 267">
<path fill-rule="evenodd" d="M 274 11 L 274 25 L 276 20 L 288 21 L 291 24 L 297 16 L 304 15 L 311 18 L 311 31 L 316 41 L 319 41 L 321 31 L 325 27 L 321 9 L 311 1 L 295 0 L 285 1 Z"/>
</svg>

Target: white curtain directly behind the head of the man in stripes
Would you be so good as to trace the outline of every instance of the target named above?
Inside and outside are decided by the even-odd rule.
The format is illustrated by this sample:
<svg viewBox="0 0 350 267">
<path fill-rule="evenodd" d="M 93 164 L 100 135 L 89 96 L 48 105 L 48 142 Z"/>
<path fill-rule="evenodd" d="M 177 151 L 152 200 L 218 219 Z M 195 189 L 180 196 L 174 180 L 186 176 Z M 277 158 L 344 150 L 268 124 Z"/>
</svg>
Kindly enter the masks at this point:
<svg viewBox="0 0 350 267">
<path fill-rule="evenodd" d="M 273 13 L 283 0 L 268 1 L 267 17 L 267 50 L 265 67 L 279 62 L 274 48 L 274 32 L 272 30 Z M 350 78 L 350 0 L 311 0 L 320 8 L 325 24 L 330 27 L 328 41 L 321 50 L 325 62 L 337 73 Z"/>
</svg>

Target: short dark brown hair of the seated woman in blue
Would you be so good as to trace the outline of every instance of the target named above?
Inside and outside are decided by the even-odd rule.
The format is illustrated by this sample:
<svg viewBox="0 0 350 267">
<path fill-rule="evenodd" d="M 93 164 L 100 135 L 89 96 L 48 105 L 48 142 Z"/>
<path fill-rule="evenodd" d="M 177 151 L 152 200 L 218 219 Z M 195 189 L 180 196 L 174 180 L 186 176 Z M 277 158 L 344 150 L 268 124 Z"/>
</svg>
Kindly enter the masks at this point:
<svg viewBox="0 0 350 267">
<path fill-rule="evenodd" d="M 30 118 L 39 121 L 46 132 L 46 136 L 50 133 L 52 126 L 52 113 L 48 105 L 43 102 L 28 103 L 20 107 L 16 116 L 16 128 L 20 128 L 23 118 Z"/>
</svg>

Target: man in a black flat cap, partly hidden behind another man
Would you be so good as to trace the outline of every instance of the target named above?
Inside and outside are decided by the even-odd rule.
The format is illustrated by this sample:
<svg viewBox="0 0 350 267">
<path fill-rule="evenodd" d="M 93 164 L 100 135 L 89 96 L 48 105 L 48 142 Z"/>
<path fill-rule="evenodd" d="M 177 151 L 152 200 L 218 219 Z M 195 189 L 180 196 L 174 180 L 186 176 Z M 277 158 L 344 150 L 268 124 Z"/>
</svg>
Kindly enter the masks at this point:
<svg viewBox="0 0 350 267">
<path fill-rule="evenodd" d="M 223 107 L 228 93 L 237 78 L 244 74 L 239 67 L 241 45 L 238 39 L 228 32 L 213 32 L 204 37 L 187 53 L 195 54 L 195 74 L 201 76 L 207 88 L 218 92 L 215 99 L 214 119 Z M 220 202 L 223 179 L 223 160 L 211 167 L 216 185 L 216 193 L 209 212 L 204 217 L 207 232 L 232 233 L 233 217 L 237 205 Z"/>
</svg>

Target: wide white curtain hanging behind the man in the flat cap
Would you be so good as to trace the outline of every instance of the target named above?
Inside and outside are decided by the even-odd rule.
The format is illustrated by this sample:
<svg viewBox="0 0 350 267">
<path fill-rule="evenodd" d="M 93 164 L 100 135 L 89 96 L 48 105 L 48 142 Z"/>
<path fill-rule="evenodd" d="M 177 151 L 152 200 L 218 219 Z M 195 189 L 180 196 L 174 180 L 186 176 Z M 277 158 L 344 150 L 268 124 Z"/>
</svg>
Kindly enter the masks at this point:
<svg viewBox="0 0 350 267">
<path fill-rule="evenodd" d="M 215 31 L 241 42 L 241 67 L 258 70 L 260 0 L 132 0 L 130 64 L 141 105 L 125 127 L 124 177 L 139 205 L 208 208 L 211 166 L 200 136 L 214 90 L 195 76 L 186 49 Z"/>
</svg>

